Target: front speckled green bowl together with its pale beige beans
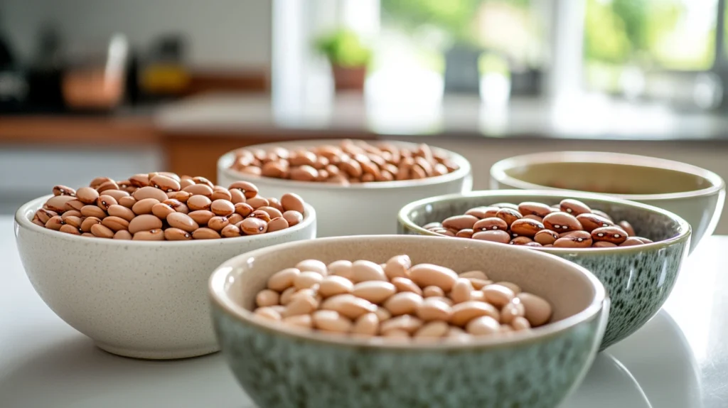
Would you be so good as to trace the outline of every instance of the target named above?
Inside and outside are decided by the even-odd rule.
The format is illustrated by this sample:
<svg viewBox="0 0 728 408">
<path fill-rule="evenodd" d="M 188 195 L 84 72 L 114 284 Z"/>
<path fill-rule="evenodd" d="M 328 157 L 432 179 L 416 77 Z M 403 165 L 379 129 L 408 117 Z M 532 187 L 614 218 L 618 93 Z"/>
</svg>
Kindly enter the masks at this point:
<svg viewBox="0 0 728 408">
<path fill-rule="evenodd" d="M 556 407 L 609 308 L 574 263 L 426 236 L 269 247 L 209 287 L 223 356 L 258 407 Z"/>
</svg>

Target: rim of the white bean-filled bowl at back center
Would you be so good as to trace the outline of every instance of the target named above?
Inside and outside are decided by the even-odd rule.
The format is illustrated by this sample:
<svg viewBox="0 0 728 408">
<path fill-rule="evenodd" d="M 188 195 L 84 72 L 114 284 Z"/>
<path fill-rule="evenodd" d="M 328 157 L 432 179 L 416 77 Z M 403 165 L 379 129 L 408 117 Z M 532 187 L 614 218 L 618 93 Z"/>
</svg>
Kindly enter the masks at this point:
<svg viewBox="0 0 728 408">
<path fill-rule="evenodd" d="M 467 177 L 467 175 L 470 175 L 471 172 L 471 166 L 470 161 L 467 161 L 467 159 L 464 158 L 464 156 L 459 155 L 458 153 L 455 153 L 454 151 L 449 151 L 444 148 L 439 148 L 437 146 L 430 146 L 432 150 L 435 151 L 441 151 L 448 155 L 458 166 L 459 168 L 456 169 L 454 172 L 448 173 L 446 175 L 439 175 L 435 177 L 427 177 L 417 180 L 393 180 L 393 181 L 377 181 L 377 182 L 369 182 L 369 183 L 356 183 L 356 184 L 349 184 L 349 185 L 339 185 L 339 184 L 333 184 L 333 183 L 322 183 L 322 182 L 316 182 L 316 181 L 298 181 L 298 180 L 288 180 L 288 179 L 280 179 L 275 177 L 263 177 L 263 176 L 256 176 L 256 175 L 248 175 L 242 172 L 238 172 L 236 170 L 232 170 L 229 168 L 229 165 L 232 164 L 232 161 L 234 159 L 234 155 L 236 151 L 239 151 L 241 149 L 267 149 L 267 148 L 274 148 L 274 147 L 286 147 L 286 146 L 312 146 L 312 145 L 325 145 L 325 144 L 336 144 L 341 142 L 342 140 L 349 140 L 349 139 L 312 139 L 312 140 L 289 140 L 285 142 L 274 142 L 274 143 L 260 143 L 258 145 L 249 145 L 244 146 L 242 148 L 237 148 L 232 151 L 228 151 L 227 153 L 220 156 L 217 162 L 218 166 L 218 172 L 222 172 L 226 177 L 232 178 L 234 180 L 245 180 L 250 181 L 253 183 L 266 183 L 267 185 L 274 185 L 277 187 L 287 187 L 287 188 L 296 188 L 296 190 L 387 190 L 391 188 L 408 188 L 408 187 L 419 187 L 424 185 L 433 185 L 433 184 L 440 184 L 440 183 L 451 183 L 455 180 L 460 180 L 464 177 Z M 354 139 L 350 139 L 354 140 Z M 411 143 L 411 142 L 402 142 L 399 140 L 363 140 L 365 142 L 377 142 L 377 143 L 392 143 L 393 145 L 400 145 L 400 146 L 407 146 L 407 147 L 413 147 L 417 146 L 418 143 Z"/>
</svg>

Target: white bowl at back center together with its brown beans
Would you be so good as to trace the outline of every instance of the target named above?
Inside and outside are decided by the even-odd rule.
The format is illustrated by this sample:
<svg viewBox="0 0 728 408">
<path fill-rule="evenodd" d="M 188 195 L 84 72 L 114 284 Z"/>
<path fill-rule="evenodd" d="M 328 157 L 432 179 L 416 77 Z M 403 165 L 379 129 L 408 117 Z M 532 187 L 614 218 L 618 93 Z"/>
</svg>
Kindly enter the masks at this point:
<svg viewBox="0 0 728 408">
<path fill-rule="evenodd" d="M 218 160 L 218 181 L 297 193 L 317 210 L 318 236 L 396 233 L 408 202 L 472 188 L 470 163 L 425 144 L 306 140 L 253 145 Z M 352 223 L 352 217 L 356 222 Z"/>
</svg>

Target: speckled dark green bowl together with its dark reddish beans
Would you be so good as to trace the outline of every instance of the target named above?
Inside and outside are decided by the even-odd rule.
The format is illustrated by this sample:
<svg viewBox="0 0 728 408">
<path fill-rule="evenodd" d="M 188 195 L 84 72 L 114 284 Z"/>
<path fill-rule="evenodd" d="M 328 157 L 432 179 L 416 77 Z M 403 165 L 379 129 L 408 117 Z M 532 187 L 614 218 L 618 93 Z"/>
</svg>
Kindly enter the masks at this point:
<svg viewBox="0 0 728 408">
<path fill-rule="evenodd" d="M 660 311 L 687 257 L 690 225 L 671 212 L 609 196 L 474 191 L 406 205 L 400 233 L 547 252 L 593 272 L 612 299 L 601 348 Z"/>
</svg>

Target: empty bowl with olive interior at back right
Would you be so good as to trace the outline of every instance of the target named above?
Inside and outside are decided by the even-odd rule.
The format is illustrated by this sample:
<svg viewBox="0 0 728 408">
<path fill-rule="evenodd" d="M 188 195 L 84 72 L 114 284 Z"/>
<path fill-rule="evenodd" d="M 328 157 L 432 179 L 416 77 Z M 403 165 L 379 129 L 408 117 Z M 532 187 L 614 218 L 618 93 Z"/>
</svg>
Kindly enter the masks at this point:
<svg viewBox="0 0 728 408">
<path fill-rule="evenodd" d="M 623 153 L 564 151 L 515 156 L 491 167 L 491 188 L 606 193 L 674 212 L 692 227 L 692 252 L 723 211 L 725 183 L 679 161 Z"/>
</svg>

